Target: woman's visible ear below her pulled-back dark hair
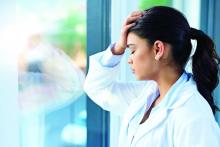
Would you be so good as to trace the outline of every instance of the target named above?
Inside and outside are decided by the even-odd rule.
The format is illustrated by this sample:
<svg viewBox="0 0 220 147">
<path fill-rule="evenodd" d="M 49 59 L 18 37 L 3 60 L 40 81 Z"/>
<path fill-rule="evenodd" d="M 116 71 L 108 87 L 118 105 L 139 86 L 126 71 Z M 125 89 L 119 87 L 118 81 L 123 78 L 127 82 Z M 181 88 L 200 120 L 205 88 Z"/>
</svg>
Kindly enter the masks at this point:
<svg viewBox="0 0 220 147">
<path fill-rule="evenodd" d="M 159 61 L 161 59 L 161 57 L 164 55 L 164 50 L 165 50 L 165 44 L 160 40 L 156 40 L 154 42 L 154 58 L 155 58 L 155 60 Z"/>
</svg>

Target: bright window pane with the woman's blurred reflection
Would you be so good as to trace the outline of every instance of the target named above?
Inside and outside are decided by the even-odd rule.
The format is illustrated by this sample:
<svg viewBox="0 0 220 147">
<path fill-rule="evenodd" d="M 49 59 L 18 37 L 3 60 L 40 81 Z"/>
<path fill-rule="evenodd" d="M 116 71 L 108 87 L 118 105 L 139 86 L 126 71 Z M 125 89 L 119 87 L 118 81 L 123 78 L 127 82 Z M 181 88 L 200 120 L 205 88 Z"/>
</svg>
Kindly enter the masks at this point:
<svg viewBox="0 0 220 147">
<path fill-rule="evenodd" d="M 86 1 L 18 0 L 21 147 L 86 146 Z"/>
</svg>

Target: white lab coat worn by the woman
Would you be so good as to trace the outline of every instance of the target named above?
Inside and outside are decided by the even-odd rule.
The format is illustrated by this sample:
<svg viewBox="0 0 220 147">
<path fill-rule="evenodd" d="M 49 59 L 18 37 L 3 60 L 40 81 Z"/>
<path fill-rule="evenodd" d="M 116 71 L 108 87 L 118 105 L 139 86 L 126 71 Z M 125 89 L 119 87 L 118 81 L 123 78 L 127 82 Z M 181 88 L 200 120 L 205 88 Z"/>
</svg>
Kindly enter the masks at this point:
<svg viewBox="0 0 220 147">
<path fill-rule="evenodd" d="M 191 75 L 183 73 L 139 124 L 159 91 L 153 81 L 121 83 L 119 64 L 106 67 L 106 51 L 90 56 L 84 89 L 100 107 L 123 117 L 118 147 L 220 147 L 220 129 Z"/>
</svg>

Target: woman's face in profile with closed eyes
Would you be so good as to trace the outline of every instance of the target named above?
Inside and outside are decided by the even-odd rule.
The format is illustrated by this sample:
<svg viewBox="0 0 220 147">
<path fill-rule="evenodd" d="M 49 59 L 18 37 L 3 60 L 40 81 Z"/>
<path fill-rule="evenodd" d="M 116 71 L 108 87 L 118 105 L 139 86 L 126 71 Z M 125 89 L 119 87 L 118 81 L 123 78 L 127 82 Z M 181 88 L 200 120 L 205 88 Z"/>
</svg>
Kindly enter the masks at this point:
<svg viewBox="0 0 220 147">
<path fill-rule="evenodd" d="M 155 60 L 153 46 L 147 39 L 140 38 L 134 33 L 129 33 L 127 38 L 128 48 L 131 54 L 128 58 L 133 73 L 138 80 L 154 80 L 159 71 L 159 65 Z"/>
</svg>

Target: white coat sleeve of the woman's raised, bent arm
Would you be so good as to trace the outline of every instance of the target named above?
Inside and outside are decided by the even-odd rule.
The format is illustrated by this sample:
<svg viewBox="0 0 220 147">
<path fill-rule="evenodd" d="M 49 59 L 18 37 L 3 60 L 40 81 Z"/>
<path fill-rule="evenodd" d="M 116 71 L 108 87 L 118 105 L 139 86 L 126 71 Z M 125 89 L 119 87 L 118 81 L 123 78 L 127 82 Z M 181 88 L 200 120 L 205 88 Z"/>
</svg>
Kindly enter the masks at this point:
<svg viewBox="0 0 220 147">
<path fill-rule="evenodd" d="M 110 48 L 90 56 L 84 90 L 104 110 L 123 115 L 148 82 L 118 82 L 120 58 L 110 55 Z"/>
</svg>

